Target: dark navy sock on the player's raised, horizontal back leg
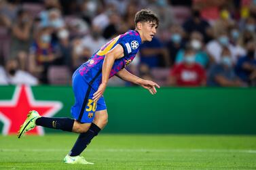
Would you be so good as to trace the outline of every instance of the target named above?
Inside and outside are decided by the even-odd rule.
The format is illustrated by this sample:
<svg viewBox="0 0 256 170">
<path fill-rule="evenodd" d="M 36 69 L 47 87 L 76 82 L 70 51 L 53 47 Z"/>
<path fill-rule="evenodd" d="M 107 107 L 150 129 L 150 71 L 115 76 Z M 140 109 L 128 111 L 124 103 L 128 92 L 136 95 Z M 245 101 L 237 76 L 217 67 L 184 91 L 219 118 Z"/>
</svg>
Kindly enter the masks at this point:
<svg viewBox="0 0 256 170">
<path fill-rule="evenodd" d="M 42 127 L 49 127 L 52 129 L 61 129 L 62 131 L 72 131 L 74 119 L 69 118 L 52 118 L 52 117 L 39 117 L 35 121 L 35 125 Z"/>
</svg>

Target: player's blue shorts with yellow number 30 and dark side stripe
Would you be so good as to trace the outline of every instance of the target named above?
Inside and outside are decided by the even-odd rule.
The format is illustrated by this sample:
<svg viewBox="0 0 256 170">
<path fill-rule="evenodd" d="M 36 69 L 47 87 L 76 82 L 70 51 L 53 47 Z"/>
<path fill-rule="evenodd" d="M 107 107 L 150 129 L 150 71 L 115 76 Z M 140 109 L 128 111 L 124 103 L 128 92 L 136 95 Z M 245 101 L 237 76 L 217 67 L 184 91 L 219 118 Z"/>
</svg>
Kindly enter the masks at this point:
<svg viewBox="0 0 256 170">
<path fill-rule="evenodd" d="M 71 115 L 81 123 L 92 123 L 96 111 L 107 109 L 105 100 L 102 96 L 97 103 L 93 102 L 96 91 L 79 74 L 78 69 L 73 74 L 72 83 L 75 104 L 71 107 Z"/>
</svg>

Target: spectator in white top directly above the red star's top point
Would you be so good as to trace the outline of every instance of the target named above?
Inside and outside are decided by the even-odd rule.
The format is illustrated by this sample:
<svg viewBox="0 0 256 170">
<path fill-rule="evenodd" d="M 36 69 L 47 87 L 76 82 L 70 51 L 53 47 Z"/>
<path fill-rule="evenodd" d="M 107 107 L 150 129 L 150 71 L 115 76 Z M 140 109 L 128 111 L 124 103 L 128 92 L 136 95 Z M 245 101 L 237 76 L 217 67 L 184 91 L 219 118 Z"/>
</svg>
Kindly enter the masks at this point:
<svg viewBox="0 0 256 170">
<path fill-rule="evenodd" d="M 33 77 L 29 72 L 20 70 L 18 61 L 12 59 L 6 63 L 7 81 L 10 85 L 37 85 L 37 78 Z"/>
</svg>

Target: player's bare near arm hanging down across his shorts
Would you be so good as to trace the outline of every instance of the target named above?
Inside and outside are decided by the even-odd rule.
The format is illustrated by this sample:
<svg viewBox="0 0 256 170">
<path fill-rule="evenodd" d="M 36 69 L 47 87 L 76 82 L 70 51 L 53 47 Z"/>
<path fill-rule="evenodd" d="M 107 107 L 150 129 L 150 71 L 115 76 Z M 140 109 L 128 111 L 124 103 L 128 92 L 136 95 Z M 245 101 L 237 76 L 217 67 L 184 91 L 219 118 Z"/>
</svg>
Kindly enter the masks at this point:
<svg viewBox="0 0 256 170">
<path fill-rule="evenodd" d="M 101 95 L 103 95 L 107 82 L 109 81 L 109 75 L 111 68 L 115 62 L 115 60 L 122 58 L 124 56 L 123 47 L 118 44 L 111 51 L 107 52 L 103 61 L 103 69 L 102 69 L 102 83 L 98 87 L 98 90 L 94 93 L 94 97 L 92 98 L 94 102 L 96 102 Z"/>
</svg>

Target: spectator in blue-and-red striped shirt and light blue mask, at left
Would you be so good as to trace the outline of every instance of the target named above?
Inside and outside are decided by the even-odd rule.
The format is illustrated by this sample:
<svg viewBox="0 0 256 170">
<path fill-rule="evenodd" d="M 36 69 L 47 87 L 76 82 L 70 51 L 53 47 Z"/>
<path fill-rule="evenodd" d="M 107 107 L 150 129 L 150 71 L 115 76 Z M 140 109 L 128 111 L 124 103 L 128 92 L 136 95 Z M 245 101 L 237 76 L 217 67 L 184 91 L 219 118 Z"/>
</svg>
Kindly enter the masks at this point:
<svg viewBox="0 0 256 170">
<path fill-rule="evenodd" d="M 48 68 L 54 64 L 54 60 L 59 58 L 57 47 L 58 45 L 52 42 L 51 29 L 41 28 L 31 45 L 29 54 L 30 70 L 38 75 L 41 83 L 48 83 Z"/>
</svg>

